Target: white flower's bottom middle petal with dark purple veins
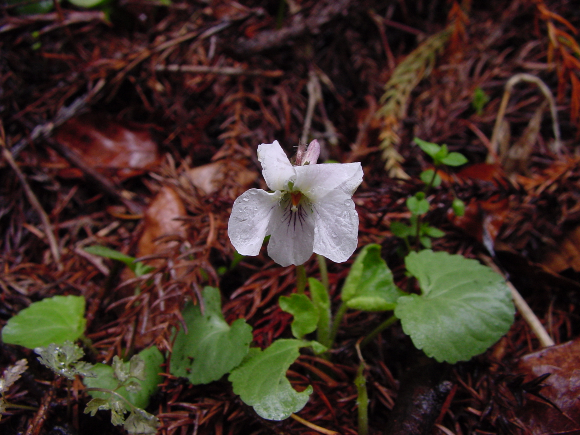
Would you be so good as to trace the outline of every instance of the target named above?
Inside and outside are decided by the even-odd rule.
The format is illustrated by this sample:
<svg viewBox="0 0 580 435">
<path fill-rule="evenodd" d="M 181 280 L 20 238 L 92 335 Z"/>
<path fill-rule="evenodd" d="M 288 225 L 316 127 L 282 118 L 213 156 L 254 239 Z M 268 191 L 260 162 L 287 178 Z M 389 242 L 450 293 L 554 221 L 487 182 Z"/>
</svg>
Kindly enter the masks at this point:
<svg viewBox="0 0 580 435">
<path fill-rule="evenodd" d="M 312 255 L 314 222 L 310 207 L 299 206 L 291 211 L 290 204 L 278 207 L 272 214 L 268 255 L 280 266 L 304 264 Z"/>
</svg>

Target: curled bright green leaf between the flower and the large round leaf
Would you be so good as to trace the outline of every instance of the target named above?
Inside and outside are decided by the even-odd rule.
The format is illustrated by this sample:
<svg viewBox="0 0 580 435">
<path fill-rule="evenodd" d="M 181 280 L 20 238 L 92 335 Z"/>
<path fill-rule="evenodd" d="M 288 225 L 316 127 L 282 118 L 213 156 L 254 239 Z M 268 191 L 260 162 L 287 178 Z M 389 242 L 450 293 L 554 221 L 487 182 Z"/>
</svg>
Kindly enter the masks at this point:
<svg viewBox="0 0 580 435">
<path fill-rule="evenodd" d="M 355 310 L 393 310 L 405 293 L 394 284 L 393 274 L 380 257 L 380 245 L 361 249 L 342 287 L 340 298 Z"/>
</svg>

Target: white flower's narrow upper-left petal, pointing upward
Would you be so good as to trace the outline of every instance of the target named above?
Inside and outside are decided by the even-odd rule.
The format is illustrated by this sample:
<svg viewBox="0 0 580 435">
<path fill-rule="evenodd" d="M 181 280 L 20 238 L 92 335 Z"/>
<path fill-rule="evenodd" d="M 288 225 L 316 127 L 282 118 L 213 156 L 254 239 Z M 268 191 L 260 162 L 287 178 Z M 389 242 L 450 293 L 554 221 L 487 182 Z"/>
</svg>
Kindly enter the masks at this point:
<svg viewBox="0 0 580 435">
<path fill-rule="evenodd" d="M 271 190 L 287 190 L 288 180 L 295 178 L 296 173 L 277 140 L 258 146 L 258 160 L 268 187 Z"/>
</svg>

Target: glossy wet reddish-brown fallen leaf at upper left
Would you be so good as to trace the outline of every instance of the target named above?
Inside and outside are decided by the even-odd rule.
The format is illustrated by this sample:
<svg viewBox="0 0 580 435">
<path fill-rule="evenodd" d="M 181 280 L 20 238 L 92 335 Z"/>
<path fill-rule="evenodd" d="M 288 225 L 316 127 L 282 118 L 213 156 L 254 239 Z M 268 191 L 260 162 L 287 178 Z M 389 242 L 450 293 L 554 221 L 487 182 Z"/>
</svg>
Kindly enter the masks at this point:
<svg viewBox="0 0 580 435">
<path fill-rule="evenodd" d="M 117 180 L 141 175 L 161 163 L 157 143 L 139 124 L 121 124 L 102 114 L 89 113 L 71 118 L 56 131 L 55 140 L 77 151 L 86 164 Z M 56 154 L 53 164 L 66 178 L 82 177 L 80 169 L 71 168 Z"/>
</svg>

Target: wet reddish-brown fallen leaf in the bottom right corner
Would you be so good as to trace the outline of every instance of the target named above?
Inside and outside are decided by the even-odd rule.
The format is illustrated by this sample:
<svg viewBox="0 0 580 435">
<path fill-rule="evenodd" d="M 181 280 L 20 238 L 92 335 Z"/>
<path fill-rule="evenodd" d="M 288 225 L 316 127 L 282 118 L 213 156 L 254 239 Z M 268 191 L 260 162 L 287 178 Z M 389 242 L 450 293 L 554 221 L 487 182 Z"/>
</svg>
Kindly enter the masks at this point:
<svg viewBox="0 0 580 435">
<path fill-rule="evenodd" d="M 524 382 L 550 374 L 542 380 L 539 394 L 560 408 L 527 394 L 528 400 L 520 409 L 519 418 L 532 435 L 580 430 L 580 339 L 524 356 L 517 371 L 525 375 Z"/>
</svg>

